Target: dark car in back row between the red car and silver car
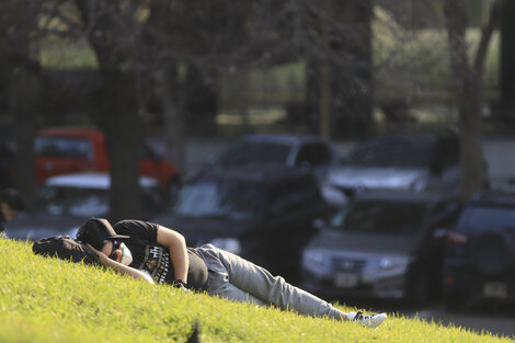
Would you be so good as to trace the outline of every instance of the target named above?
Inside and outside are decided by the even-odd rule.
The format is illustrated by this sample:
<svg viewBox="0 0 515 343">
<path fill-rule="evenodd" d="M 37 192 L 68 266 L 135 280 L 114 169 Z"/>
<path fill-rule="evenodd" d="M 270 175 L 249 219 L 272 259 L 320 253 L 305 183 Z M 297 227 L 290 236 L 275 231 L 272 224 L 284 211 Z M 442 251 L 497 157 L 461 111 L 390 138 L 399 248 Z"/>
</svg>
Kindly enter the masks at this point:
<svg viewBox="0 0 515 343">
<path fill-rule="evenodd" d="M 288 134 L 247 135 L 229 144 L 208 167 L 238 168 L 278 164 L 310 169 L 317 181 L 339 162 L 329 141 L 316 136 Z"/>
</svg>

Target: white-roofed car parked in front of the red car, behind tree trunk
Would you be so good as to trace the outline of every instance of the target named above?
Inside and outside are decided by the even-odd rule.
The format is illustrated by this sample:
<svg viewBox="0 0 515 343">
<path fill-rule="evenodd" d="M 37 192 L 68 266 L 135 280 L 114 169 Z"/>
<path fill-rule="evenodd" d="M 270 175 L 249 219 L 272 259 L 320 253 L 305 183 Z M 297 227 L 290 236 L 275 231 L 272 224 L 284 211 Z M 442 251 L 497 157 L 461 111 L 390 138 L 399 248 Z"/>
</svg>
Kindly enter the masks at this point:
<svg viewBox="0 0 515 343">
<path fill-rule="evenodd" d="M 75 231 L 90 217 L 110 218 L 110 176 L 106 173 L 62 174 L 47 179 L 28 203 L 5 226 L 13 239 L 39 239 Z M 162 209 L 162 192 L 153 178 L 140 176 L 144 218 Z"/>
</svg>

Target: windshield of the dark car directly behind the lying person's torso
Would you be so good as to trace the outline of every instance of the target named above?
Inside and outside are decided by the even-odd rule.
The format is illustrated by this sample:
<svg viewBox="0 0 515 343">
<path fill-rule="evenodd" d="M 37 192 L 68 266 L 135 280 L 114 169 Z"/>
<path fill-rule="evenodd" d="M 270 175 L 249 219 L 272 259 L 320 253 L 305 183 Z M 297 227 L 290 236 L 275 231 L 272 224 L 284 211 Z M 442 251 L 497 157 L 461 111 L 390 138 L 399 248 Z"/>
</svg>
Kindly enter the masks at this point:
<svg viewBox="0 0 515 343">
<path fill-rule="evenodd" d="M 263 190 L 258 184 L 205 180 L 185 184 L 178 194 L 172 211 L 190 217 L 243 220 L 255 216 L 263 198 Z"/>
</svg>

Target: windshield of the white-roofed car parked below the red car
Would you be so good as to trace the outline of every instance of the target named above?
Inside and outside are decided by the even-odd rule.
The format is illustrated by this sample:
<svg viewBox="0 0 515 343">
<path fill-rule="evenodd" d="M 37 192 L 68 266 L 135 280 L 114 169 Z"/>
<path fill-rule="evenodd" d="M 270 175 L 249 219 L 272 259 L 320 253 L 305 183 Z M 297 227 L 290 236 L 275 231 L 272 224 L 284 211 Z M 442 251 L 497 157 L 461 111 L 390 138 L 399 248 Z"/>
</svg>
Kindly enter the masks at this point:
<svg viewBox="0 0 515 343">
<path fill-rule="evenodd" d="M 37 210 L 54 216 L 105 216 L 108 211 L 106 190 L 42 186 L 36 193 Z"/>
</svg>

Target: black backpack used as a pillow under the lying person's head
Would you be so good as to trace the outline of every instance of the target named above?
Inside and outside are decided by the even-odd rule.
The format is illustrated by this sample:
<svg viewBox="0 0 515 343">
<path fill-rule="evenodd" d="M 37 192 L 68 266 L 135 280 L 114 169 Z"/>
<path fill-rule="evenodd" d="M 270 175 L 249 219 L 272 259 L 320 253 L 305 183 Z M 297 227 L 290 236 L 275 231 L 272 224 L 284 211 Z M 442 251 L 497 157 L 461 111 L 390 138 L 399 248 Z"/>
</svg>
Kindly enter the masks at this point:
<svg viewBox="0 0 515 343">
<path fill-rule="evenodd" d="M 38 239 L 32 245 L 32 251 L 43 256 L 100 265 L 99 256 L 90 248 L 69 236 Z"/>
</svg>

